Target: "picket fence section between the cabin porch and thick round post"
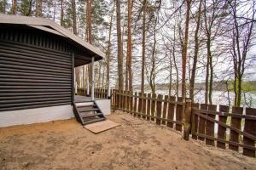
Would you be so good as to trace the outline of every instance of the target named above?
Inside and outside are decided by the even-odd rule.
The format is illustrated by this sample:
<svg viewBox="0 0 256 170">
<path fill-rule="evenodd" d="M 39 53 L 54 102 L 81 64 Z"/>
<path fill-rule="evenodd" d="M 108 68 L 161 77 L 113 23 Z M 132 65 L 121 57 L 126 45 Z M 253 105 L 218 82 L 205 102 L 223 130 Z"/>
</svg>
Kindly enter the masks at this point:
<svg viewBox="0 0 256 170">
<path fill-rule="evenodd" d="M 133 116 L 155 121 L 156 124 L 166 125 L 182 132 L 183 122 L 186 122 L 185 111 L 189 110 L 190 102 L 182 98 L 161 94 L 141 94 L 113 91 L 113 110 L 131 113 Z M 191 107 L 190 107 L 191 109 Z M 184 119 L 184 120 L 183 120 Z"/>
</svg>

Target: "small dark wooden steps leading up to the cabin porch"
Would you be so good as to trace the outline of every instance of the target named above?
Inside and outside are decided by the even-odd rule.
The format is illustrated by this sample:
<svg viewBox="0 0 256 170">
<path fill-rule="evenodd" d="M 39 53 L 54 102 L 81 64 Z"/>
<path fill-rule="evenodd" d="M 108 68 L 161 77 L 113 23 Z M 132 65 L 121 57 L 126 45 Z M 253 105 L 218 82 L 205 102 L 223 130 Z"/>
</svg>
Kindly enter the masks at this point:
<svg viewBox="0 0 256 170">
<path fill-rule="evenodd" d="M 73 102 L 73 112 L 77 121 L 82 125 L 106 120 L 95 101 Z"/>
</svg>

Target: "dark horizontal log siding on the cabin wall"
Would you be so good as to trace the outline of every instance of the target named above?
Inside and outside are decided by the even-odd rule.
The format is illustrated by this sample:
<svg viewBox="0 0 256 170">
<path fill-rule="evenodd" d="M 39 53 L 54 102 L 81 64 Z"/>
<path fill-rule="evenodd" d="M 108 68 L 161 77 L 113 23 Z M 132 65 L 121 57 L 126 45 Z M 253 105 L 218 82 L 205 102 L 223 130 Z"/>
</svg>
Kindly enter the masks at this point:
<svg viewBox="0 0 256 170">
<path fill-rule="evenodd" d="M 70 105 L 71 48 L 44 31 L 0 29 L 0 111 Z"/>
</svg>

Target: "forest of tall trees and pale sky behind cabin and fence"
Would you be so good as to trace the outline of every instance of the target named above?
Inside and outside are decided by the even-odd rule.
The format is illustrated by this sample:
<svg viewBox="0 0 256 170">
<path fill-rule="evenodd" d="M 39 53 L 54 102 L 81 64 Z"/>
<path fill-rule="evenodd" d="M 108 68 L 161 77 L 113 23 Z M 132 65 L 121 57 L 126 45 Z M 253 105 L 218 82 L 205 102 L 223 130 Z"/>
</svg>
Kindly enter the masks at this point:
<svg viewBox="0 0 256 170">
<path fill-rule="evenodd" d="M 255 0 L 1 0 L 0 13 L 54 20 L 100 48 L 96 88 L 256 107 Z M 75 72 L 91 84 L 90 65 Z"/>
</svg>

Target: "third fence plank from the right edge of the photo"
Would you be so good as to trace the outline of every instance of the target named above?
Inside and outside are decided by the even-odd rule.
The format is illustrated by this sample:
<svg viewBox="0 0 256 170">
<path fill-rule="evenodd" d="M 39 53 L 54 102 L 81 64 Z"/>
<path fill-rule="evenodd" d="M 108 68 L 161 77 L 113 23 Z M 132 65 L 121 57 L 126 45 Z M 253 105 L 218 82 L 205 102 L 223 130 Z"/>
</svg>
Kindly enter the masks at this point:
<svg viewBox="0 0 256 170">
<path fill-rule="evenodd" d="M 227 105 L 219 105 L 220 112 L 229 112 L 230 108 Z M 227 123 L 227 116 L 218 116 L 218 121 Z M 218 139 L 226 139 L 226 127 L 218 126 Z M 221 149 L 226 148 L 226 144 L 221 141 L 217 141 L 217 147 Z"/>
</svg>

